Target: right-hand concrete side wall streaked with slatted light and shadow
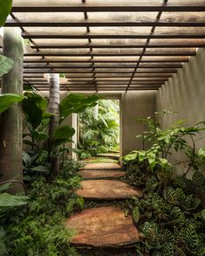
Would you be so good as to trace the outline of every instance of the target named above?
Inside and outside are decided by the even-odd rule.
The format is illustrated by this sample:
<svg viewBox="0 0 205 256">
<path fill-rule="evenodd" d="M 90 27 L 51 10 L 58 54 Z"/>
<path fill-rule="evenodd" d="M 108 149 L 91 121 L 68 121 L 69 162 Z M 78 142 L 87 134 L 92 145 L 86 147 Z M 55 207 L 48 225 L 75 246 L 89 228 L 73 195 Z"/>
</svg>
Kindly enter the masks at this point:
<svg viewBox="0 0 205 256">
<path fill-rule="evenodd" d="M 186 126 L 205 121 L 205 50 L 200 49 L 181 70 L 169 79 L 157 93 L 156 107 L 177 112 L 167 114 L 161 122 L 166 128 L 176 120 L 186 120 Z M 202 137 L 202 140 L 197 140 Z M 205 146 L 205 133 L 195 138 L 196 149 Z M 181 161 L 182 156 L 175 154 L 174 160 Z M 178 172 L 181 172 L 178 167 Z"/>
</svg>

